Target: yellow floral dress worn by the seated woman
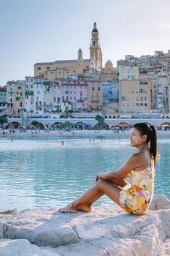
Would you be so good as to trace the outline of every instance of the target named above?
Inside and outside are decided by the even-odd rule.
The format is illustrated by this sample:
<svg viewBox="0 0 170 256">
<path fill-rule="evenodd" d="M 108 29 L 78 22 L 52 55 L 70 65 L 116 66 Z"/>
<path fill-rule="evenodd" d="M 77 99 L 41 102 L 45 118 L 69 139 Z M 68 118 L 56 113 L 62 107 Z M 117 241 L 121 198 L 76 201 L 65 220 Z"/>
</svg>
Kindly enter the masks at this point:
<svg viewBox="0 0 170 256">
<path fill-rule="evenodd" d="M 151 163 L 144 170 L 128 173 L 131 184 L 125 185 L 120 191 L 120 206 L 124 211 L 142 215 L 150 206 L 154 189 L 155 169 Z"/>
</svg>

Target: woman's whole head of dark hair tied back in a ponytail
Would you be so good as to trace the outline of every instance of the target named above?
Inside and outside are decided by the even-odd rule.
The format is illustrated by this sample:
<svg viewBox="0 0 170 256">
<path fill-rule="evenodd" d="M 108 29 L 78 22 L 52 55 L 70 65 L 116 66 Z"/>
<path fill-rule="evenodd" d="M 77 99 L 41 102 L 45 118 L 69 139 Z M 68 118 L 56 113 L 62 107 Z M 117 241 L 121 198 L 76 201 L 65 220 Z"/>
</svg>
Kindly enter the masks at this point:
<svg viewBox="0 0 170 256">
<path fill-rule="evenodd" d="M 157 132 L 153 125 L 149 123 L 137 123 L 134 124 L 133 128 L 137 129 L 140 135 L 147 135 L 147 144 L 150 143 L 150 154 L 154 159 L 154 165 L 156 163 L 156 155 L 158 152 L 157 145 Z"/>
</svg>

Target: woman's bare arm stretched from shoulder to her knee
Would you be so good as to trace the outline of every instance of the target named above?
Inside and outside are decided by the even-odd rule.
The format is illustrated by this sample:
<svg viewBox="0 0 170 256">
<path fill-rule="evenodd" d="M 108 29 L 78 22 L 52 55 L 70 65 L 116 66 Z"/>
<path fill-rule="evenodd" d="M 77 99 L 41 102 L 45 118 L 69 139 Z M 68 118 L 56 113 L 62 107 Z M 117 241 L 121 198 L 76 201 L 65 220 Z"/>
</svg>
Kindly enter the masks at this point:
<svg viewBox="0 0 170 256">
<path fill-rule="evenodd" d="M 125 178 L 127 174 L 131 172 L 131 170 L 134 170 L 137 167 L 139 167 L 139 163 L 141 162 L 141 160 L 142 160 L 142 157 L 139 154 L 133 154 L 117 170 L 115 171 L 113 170 L 107 173 L 99 173 L 98 176 L 96 177 L 96 181 L 100 179 L 106 179 L 110 181 L 113 178 L 116 178 L 116 179 Z"/>
</svg>

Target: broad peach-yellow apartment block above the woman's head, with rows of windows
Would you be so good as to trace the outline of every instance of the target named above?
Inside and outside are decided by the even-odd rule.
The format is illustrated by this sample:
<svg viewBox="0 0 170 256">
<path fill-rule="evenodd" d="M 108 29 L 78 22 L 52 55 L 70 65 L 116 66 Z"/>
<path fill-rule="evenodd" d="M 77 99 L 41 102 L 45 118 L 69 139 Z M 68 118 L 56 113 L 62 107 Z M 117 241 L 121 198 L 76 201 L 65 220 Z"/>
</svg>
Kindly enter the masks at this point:
<svg viewBox="0 0 170 256">
<path fill-rule="evenodd" d="M 120 80 L 120 113 L 150 113 L 150 90 L 149 80 Z"/>
</svg>

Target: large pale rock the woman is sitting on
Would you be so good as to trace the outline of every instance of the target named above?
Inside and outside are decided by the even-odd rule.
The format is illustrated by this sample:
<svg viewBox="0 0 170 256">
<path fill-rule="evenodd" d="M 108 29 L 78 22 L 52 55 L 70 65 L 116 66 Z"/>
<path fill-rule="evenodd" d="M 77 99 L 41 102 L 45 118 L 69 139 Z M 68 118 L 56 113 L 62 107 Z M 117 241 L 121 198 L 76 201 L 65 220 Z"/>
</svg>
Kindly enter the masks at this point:
<svg viewBox="0 0 170 256">
<path fill-rule="evenodd" d="M 153 198 L 143 216 L 119 207 L 61 214 L 35 208 L 0 215 L 0 256 L 170 255 L 170 201 Z"/>
</svg>

